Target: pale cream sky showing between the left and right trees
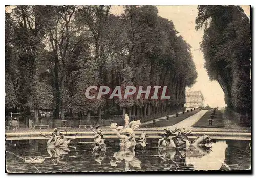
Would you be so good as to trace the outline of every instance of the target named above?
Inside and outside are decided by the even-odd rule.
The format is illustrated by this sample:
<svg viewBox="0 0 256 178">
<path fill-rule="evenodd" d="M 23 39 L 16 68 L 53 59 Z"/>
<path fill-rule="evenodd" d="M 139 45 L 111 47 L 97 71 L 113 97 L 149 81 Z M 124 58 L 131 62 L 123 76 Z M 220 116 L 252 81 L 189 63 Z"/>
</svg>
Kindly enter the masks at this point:
<svg viewBox="0 0 256 178">
<path fill-rule="evenodd" d="M 157 6 L 159 16 L 172 20 L 179 35 L 192 46 L 193 60 L 196 64 L 198 78 L 196 84 L 190 88 L 191 91 L 201 91 L 205 98 L 205 105 L 210 106 L 225 106 L 224 93 L 217 81 L 210 81 L 207 71 L 204 69 L 204 58 L 200 48 L 203 31 L 195 30 L 195 19 L 197 17 L 197 6 Z M 249 11 L 248 6 L 245 12 Z M 112 12 L 121 14 L 122 6 L 113 6 Z"/>
</svg>

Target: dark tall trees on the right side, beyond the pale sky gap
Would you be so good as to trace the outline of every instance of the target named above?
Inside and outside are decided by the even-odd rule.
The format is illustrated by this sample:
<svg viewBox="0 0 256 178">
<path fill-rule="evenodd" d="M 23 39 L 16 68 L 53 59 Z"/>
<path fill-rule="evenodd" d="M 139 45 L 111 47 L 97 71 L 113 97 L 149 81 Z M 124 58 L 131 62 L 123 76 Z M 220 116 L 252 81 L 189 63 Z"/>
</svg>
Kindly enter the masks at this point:
<svg viewBox="0 0 256 178">
<path fill-rule="evenodd" d="M 250 20 L 239 6 L 198 6 L 196 29 L 211 80 L 225 93 L 228 108 L 251 115 Z"/>
</svg>

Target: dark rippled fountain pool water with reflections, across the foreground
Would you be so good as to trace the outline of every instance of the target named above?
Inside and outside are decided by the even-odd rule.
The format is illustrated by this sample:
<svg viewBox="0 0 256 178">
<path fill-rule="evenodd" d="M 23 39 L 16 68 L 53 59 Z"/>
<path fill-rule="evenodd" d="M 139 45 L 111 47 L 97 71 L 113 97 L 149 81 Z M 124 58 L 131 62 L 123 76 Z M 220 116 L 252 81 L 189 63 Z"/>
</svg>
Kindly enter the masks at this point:
<svg viewBox="0 0 256 178">
<path fill-rule="evenodd" d="M 112 139 L 114 140 L 114 139 Z M 251 157 L 249 142 L 246 140 L 217 140 L 212 148 L 198 150 L 155 149 L 154 140 L 147 138 L 146 149 L 120 149 L 119 140 L 106 141 L 106 151 L 93 152 L 93 139 L 76 139 L 69 143 L 69 151 L 59 147 L 47 147 L 43 140 L 7 140 L 6 168 L 10 172 L 87 172 L 87 171 L 184 171 L 184 170 L 245 170 L 250 168 Z M 158 139 L 154 143 L 157 144 Z M 89 144 L 87 144 L 89 143 Z M 70 145 L 76 150 L 70 148 Z M 25 162 L 34 158 L 44 161 Z"/>
</svg>

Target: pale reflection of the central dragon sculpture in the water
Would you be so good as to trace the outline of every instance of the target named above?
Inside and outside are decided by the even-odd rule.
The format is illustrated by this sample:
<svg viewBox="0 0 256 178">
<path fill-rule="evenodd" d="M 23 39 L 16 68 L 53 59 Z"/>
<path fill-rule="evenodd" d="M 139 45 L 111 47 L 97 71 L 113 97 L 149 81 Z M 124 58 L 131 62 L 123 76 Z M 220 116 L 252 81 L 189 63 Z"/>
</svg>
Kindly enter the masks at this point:
<svg viewBox="0 0 256 178">
<path fill-rule="evenodd" d="M 123 162 L 125 165 L 125 171 L 129 171 L 130 166 L 141 169 L 141 161 L 135 158 L 134 148 L 124 148 L 120 149 L 120 151 L 118 152 L 115 152 L 113 158 L 110 161 L 110 165 L 113 167 L 117 167 L 117 163 L 122 164 Z"/>
</svg>

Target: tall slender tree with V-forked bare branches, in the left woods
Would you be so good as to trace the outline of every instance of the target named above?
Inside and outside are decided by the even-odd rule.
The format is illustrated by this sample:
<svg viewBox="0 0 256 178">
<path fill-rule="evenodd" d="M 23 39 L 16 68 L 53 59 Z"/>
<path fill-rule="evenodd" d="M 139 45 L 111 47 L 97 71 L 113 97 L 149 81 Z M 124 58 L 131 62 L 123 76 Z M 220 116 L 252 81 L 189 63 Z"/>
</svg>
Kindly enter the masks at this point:
<svg viewBox="0 0 256 178">
<path fill-rule="evenodd" d="M 65 81 L 68 58 L 69 42 L 74 35 L 73 20 L 75 6 L 54 6 L 48 9 L 51 14 L 48 20 L 49 46 L 54 58 L 54 97 L 56 101 L 55 116 L 64 119 L 65 114 Z M 46 14 L 48 15 L 48 14 Z"/>
</svg>

